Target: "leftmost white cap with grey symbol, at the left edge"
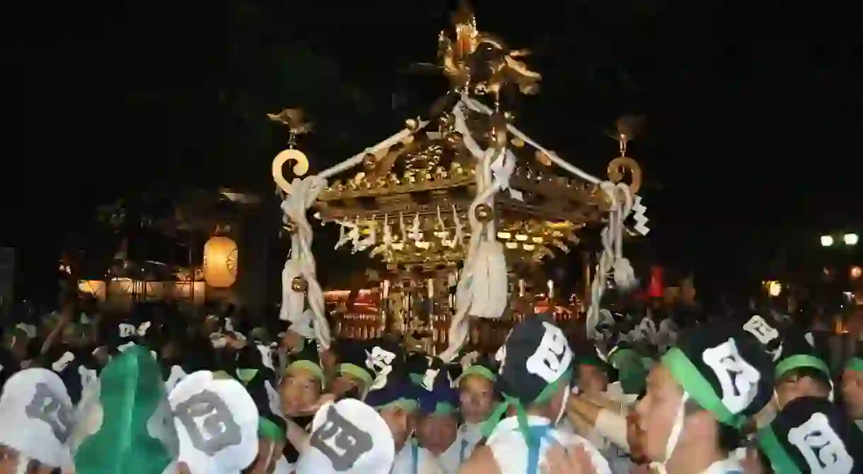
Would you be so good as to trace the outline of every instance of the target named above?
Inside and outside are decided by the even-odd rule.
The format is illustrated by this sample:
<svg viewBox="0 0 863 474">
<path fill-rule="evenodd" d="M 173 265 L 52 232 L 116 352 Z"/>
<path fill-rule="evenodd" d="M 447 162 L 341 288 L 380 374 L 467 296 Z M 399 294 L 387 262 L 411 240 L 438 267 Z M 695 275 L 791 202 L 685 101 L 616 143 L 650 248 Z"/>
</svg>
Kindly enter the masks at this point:
<svg viewBox="0 0 863 474">
<path fill-rule="evenodd" d="M 60 376 L 47 369 L 17 372 L 0 396 L 0 444 L 52 467 L 71 467 L 66 440 L 72 400 Z"/>
</svg>

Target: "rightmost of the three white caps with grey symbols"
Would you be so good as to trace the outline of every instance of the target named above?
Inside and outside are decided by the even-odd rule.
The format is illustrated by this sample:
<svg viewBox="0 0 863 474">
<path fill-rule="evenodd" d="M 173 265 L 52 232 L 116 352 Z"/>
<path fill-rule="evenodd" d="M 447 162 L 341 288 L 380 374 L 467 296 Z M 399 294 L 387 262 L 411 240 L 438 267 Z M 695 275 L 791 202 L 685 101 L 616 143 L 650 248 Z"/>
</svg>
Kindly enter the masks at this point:
<svg viewBox="0 0 863 474">
<path fill-rule="evenodd" d="M 297 474 L 388 474 L 393 468 L 393 433 L 375 409 L 359 400 L 321 407 L 309 442 L 297 461 Z"/>
</svg>

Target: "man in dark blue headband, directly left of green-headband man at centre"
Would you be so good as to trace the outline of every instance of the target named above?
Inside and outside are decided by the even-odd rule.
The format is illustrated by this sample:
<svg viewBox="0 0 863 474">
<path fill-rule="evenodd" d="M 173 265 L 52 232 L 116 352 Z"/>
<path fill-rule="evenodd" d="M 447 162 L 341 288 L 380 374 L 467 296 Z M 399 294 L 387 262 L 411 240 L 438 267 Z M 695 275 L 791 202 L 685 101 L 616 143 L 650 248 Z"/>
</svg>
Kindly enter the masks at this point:
<svg viewBox="0 0 863 474">
<path fill-rule="evenodd" d="M 439 360 L 439 359 L 438 359 Z M 442 366 L 442 365 L 441 365 Z M 444 474 L 455 474 L 462 464 L 466 443 L 457 442 L 456 390 L 446 371 L 430 369 L 419 388 L 417 441 L 438 458 Z"/>
</svg>

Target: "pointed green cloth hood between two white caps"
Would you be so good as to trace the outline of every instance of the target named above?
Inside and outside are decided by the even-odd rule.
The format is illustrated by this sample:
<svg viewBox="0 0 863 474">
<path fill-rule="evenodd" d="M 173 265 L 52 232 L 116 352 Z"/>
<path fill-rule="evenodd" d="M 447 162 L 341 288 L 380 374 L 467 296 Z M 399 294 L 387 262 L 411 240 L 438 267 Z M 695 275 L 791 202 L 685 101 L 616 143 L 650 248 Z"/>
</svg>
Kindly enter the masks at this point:
<svg viewBox="0 0 863 474">
<path fill-rule="evenodd" d="M 178 452 L 161 369 L 131 346 L 84 390 L 72 435 L 76 474 L 162 474 Z"/>
</svg>

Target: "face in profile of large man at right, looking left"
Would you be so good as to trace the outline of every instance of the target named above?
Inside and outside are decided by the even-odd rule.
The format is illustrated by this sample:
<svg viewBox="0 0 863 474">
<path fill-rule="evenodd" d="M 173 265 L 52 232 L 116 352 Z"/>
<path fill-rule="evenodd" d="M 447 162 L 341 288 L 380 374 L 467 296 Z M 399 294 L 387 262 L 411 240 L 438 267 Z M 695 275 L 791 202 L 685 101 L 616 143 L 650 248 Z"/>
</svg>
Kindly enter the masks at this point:
<svg viewBox="0 0 863 474">
<path fill-rule="evenodd" d="M 653 461 L 665 461 L 665 446 L 683 400 L 683 390 L 664 365 L 656 365 L 647 377 L 647 391 L 635 411 L 644 432 L 644 453 Z"/>
</svg>

